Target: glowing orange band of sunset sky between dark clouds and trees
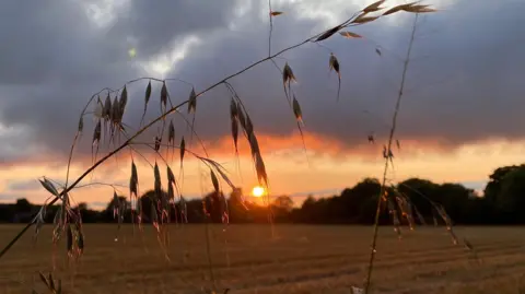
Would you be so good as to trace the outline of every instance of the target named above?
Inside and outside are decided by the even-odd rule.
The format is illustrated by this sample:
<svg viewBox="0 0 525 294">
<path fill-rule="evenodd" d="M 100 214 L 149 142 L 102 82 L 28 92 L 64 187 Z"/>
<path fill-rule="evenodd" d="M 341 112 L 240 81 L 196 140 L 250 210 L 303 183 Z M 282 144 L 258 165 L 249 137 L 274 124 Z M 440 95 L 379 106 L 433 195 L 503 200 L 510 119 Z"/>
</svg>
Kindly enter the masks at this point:
<svg viewBox="0 0 525 294">
<path fill-rule="evenodd" d="M 314 196 L 316 191 L 342 190 L 351 187 L 364 177 L 378 177 L 382 175 L 383 160 L 381 156 L 382 144 L 368 144 L 365 138 L 363 144 L 353 150 L 346 150 L 337 141 L 306 136 L 307 153 L 303 150 L 299 136 L 288 138 L 273 138 L 259 134 L 259 144 L 266 162 L 269 176 L 269 195 L 293 195 L 294 200 L 304 199 L 308 193 Z M 253 187 L 257 186 L 249 149 L 245 140 L 240 139 L 240 157 L 234 156 L 233 143 L 230 138 L 224 138 L 213 144 L 207 144 L 210 157 L 221 163 L 229 172 L 231 180 L 243 188 L 244 193 L 249 195 Z M 201 149 L 191 149 L 202 154 Z M 404 180 L 408 177 L 428 178 L 436 183 L 454 181 L 485 181 L 488 175 L 497 167 L 518 163 L 525 152 L 525 142 L 488 141 L 477 144 L 463 145 L 455 150 L 443 151 L 432 145 L 418 145 L 413 142 L 401 142 L 401 150 L 395 151 L 394 169 L 388 174 L 393 181 Z M 163 153 L 165 154 L 165 153 Z M 152 154 L 145 157 L 154 163 Z M 82 162 L 79 157 L 73 158 L 71 180 L 74 180 L 89 162 Z M 139 168 L 140 190 L 152 187 L 153 172 L 149 164 L 141 157 L 135 156 Z M 186 160 L 187 158 L 187 160 Z M 185 158 L 184 180 L 182 192 L 186 196 L 199 196 L 212 190 L 209 169 L 203 164 L 190 156 Z M 161 164 L 161 160 L 158 158 Z M 79 164 L 80 163 L 80 164 Z M 2 167 L 0 169 L 0 190 L 5 191 L 11 198 L 27 198 L 32 202 L 40 203 L 48 195 L 38 185 L 32 185 L 25 189 L 11 189 L 12 183 L 37 183 L 40 176 L 47 176 L 63 183 L 66 165 L 54 163 L 59 168 L 52 169 L 49 163 L 20 164 Z M 178 175 L 178 152 L 175 153 L 172 168 Z M 124 152 L 115 160 L 109 160 L 96 169 L 93 178 L 86 177 L 81 185 L 89 183 L 108 183 L 117 186 L 121 195 L 128 196 L 127 184 L 130 173 L 129 153 Z M 165 177 L 165 165 L 161 165 L 161 175 Z M 221 183 L 226 193 L 230 187 Z M 93 203 L 94 207 L 103 205 L 113 195 L 113 189 L 107 186 L 90 186 L 73 191 L 77 202 Z M 2 201 L 5 201 L 2 199 Z M 12 200 L 11 200 L 12 201 Z"/>
</svg>

